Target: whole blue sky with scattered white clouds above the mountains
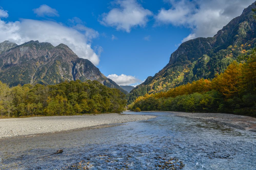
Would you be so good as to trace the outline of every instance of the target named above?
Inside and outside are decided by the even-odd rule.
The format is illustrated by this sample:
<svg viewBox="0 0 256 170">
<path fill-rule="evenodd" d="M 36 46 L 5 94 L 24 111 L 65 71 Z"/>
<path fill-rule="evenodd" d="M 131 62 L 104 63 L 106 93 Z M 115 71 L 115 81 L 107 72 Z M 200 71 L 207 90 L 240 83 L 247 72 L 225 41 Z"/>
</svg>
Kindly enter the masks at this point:
<svg viewBox="0 0 256 170">
<path fill-rule="evenodd" d="M 0 41 L 67 44 L 119 85 L 137 85 L 179 44 L 213 36 L 253 0 L 0 0 Z"/>
</svg>

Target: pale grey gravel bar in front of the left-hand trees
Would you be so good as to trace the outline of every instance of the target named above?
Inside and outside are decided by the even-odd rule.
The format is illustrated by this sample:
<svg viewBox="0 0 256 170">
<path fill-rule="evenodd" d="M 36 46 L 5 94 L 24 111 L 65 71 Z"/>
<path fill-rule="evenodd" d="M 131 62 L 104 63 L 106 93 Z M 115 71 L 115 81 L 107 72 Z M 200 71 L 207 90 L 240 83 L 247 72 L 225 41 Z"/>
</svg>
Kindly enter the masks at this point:
<svg viewBox="0 0 256 170">
<path fill-rule="evenodd" d="M 156 116 L 135 114 L 96 114 L 0 119 L 0 138 L 55 133 L 78 128 L 148 120 Z"/>
</svg>

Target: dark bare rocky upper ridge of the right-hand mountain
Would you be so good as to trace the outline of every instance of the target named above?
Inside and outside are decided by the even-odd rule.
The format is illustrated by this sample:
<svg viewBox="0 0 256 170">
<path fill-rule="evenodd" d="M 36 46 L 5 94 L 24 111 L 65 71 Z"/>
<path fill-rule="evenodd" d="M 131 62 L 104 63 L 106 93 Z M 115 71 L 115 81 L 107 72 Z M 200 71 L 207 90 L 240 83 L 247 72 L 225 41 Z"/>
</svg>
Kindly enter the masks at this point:
<svg viewBox="0 0 256 170">
<path fill-rule="evenodd" d="M 255 2 L 245 8 L 241 16 L 235 17 L 213 37 L 198 37 L 182 43 L 176 51 L 170 56 L 170 61 L 167 66 L 186 59 L 194 61 L 203 54 L 209 54 L 221 49 L 226 49 L 230 44 L 236 43 L 240 45 L 242 42 L 241 36 L 245 36 L 249 30 L 254 30 L 256 22 L 254 21 L 252 11 L 255 8 Z M 249 24 L 250 23 L 250 24 Z M 241 35 L 244 34 L 244 35 Z M 248 32 L 252 33 L 252 32 Z M 239 35 L 240 34 L 240 35 Z M 191 48 L 191 46 L 195 48 Z"/>
</svg>

